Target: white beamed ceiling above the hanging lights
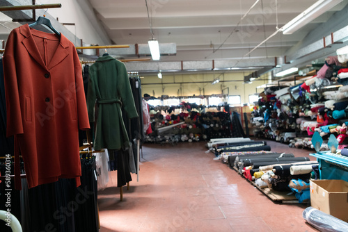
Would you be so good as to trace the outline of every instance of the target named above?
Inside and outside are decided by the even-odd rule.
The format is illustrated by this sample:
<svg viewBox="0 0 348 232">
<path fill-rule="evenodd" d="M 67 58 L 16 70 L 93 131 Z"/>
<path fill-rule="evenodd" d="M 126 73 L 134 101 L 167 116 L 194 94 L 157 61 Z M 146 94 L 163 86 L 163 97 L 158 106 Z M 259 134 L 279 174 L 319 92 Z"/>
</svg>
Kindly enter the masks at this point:
<svg viewBox="0 0 348 232">
<path fill-rule="evenodd" d="M 89 1 L 116 44 L 144 44 L 151 38 L 145 0 Z M 255 1 L 148 0 L 155 38 L 159 43 L 177 44 L 177 55 L 162 56 L 161 61 L 241 59 L 276 31 L 277 16 L 280 28 L 316 0 L 278 0 L 278 10 L 276 0 L 261 0 L 237 26 Z M 342 2 L 292 35 L 278 33 L 248 57 L 284 56 L 287 49 L 346 5 L 347 1 Z"/>
</svg>

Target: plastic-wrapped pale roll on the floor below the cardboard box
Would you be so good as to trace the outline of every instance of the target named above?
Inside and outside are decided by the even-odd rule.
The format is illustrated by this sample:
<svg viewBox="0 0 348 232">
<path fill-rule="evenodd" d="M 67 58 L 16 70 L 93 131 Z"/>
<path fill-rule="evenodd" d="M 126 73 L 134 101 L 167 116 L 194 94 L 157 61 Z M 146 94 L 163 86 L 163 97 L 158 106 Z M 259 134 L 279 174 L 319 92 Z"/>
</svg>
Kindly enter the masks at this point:
<svg viewBox="0 0 348 232">
<path fill-rule="evenodd" d="M 348 231 L 348 223 L 328 215 L 313 207 L 308 207 L 303 210 L 303 219 L 309 224 L 319 229 L 319 231 L 326 232 L 345 232 Z"/>
</svg>

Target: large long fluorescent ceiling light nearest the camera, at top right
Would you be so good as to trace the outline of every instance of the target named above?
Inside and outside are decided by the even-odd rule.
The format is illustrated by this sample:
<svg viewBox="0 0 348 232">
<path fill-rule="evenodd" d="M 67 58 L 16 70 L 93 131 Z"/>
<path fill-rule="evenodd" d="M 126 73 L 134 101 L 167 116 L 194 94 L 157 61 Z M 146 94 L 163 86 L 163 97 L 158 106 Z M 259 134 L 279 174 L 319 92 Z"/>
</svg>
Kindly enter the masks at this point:
<svg viewBox="0 0 348 232">
<path fill-rule="evenodd" d="M 299 30 L 299 28 L 305 26 L 309 22 L 313 21 L 320 15 L 326 13 L 331 8 L 336 6 L 338 3 L 343 0 L 319 0 L 315 2 L 312 6 L 307 8 L 303 13 L 297 15 L 290 22 L 285 24 L 282 27 L 282 31 L 284 35 L 290 35 L 295 31 Z"/>
</svg>

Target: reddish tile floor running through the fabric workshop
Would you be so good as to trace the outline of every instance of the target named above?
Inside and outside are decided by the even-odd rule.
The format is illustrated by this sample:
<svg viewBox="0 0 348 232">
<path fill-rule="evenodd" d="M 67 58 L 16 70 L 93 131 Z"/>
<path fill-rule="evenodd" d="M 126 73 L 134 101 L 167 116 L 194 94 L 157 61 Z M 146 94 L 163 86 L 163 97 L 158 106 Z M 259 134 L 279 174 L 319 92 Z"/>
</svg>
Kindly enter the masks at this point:
<svg viewBox="0 0 348 232">
<path fill-rule="evenodd" d="M 272 151 L 308 156 L 306 149 L 268 141 Z M 100 232 L 317 231 L 302 217 L 306 204 L 276 204 L 212 153 L 204 142 L 145 144 L 139 182 L 99 192 Z M 314 157 L 309 156 L 311 160 Z"/>
</svg>

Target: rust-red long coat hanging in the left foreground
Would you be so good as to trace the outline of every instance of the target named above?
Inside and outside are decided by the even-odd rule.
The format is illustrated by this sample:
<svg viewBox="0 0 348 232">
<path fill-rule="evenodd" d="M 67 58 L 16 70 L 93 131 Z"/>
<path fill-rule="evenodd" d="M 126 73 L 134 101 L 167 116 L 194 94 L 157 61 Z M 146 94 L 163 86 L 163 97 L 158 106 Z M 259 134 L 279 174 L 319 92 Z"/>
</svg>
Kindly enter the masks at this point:
<svg viewBox="0 0 348 232">
<path fill-rule="evenodd" d="M 90 126 L 74 44 L 24 24 L 8 36 L 3 70 L 7 136 L 15 135 L 29 188 L 81 176 L 79 129 Z"/>
</svg>

